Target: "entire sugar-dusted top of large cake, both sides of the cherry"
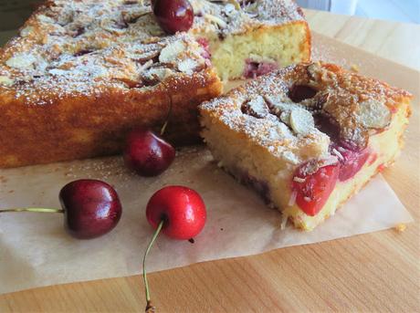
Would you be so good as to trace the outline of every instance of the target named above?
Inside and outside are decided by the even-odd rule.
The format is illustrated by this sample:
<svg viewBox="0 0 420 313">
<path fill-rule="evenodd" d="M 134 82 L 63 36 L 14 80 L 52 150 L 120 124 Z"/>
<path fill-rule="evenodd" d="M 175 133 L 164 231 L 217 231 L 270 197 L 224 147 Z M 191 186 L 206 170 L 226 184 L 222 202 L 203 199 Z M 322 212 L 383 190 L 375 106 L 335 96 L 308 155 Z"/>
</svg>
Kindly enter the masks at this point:
<svg viewBox="0 0 420 313">
<path fill-rule="evenodd" d="M 223 37 L 302 18 L 292 0 L 192 0 L 192 5 L 195 35 Z M 162 49 L 177 55 L 163 60 Z M 107 86 L 151 88 L 168 76 L 202 71 L 209 65 L 203 56 L 193 37 L 166 37 L 149 1 L 50 0 L 0 50 L 0 90 L 43 104 L 48 100 L 40 95 L 48 91 L 61 97 Z"/>
</svg>

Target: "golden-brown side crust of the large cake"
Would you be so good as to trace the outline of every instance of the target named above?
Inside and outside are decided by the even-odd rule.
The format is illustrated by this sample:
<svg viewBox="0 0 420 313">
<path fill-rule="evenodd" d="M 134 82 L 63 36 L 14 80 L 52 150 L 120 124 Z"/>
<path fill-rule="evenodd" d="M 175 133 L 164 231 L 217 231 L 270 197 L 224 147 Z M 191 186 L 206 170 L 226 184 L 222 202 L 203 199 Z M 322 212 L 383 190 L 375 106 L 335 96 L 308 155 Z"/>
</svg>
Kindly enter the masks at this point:
<svg viewBox="0 0 420 313">
<path fill-rule="evenodd" d="M 173 111 L 166 137 L 178 144 L 197 141 L 196 108 L 220 93 L 218 78 L 207 69 L 189 81 L 169 79 L 165 83 L 167 88 L 147 92 L 109 88 L 97 95 L 69 96 L 41 106 L 3 98 L 0 167 L 115 154 L 133 127 L 163 125 L 169 95 Z"/>
</svg>

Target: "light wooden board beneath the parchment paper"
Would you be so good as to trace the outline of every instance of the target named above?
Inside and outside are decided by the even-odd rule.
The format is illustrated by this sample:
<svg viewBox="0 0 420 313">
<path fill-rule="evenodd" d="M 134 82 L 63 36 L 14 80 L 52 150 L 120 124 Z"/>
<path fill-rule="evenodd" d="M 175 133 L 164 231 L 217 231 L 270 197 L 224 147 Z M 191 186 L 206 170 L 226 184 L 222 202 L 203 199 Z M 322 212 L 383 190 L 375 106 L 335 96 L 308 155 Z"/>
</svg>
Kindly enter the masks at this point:
<svg viewBox="0 0 420 313">
<path fill-rule="evenodd" d="M 159 312 L 420 310 L 419 72 L 316 34 L 314 46 L 315 57 L 414 93 L 404 153 L 383 175 L 415 223 L 403 233 L 390 229 L 153 273 Z M 5 295 L 0 311 L 142 311 L 143 298 L 141 277 L 132 276 Z"/>
</svg>

